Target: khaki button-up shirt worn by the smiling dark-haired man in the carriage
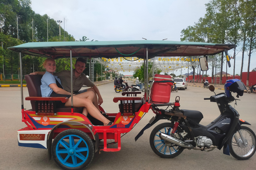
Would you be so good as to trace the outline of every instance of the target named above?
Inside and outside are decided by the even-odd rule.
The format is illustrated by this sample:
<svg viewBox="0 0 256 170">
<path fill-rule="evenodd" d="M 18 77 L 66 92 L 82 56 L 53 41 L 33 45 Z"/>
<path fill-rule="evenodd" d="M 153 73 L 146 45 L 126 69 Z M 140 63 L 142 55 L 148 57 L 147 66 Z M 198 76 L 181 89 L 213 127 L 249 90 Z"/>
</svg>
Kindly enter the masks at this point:
<svg viewBox="0 0 256 170">
<path fill-rule="evenodd" d="M 63 70 L 57 73 L 53 73 L 53 75 L 58 76 L 61 81 L 61 85 L 63 86 L 64 90 L 71 92 L 70 81 L 71 75 L 70 71 Z M 75 77 L 75 70 L 73 70 L 73 92 L 78 92 L 83 85 L 87 87 L 93 87 L 95 84 L 89 80 L 84 73 L 82 73 L 79 77 Z"/>
</svg>

